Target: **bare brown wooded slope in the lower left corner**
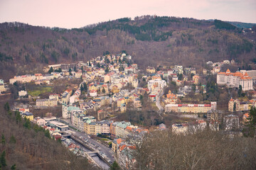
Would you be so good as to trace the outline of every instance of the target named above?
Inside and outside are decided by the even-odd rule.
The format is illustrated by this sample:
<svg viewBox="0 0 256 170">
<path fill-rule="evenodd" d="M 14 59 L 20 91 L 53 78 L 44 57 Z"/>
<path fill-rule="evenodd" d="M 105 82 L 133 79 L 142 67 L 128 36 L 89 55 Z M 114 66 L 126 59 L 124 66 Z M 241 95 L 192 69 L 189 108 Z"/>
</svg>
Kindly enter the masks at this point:
<svg viewBox="0 0 256 170">
<path fill-rule="evenodd" d="M 95 169 L 44 130 L 0 103 L 0 169 Z"/>
</svg>

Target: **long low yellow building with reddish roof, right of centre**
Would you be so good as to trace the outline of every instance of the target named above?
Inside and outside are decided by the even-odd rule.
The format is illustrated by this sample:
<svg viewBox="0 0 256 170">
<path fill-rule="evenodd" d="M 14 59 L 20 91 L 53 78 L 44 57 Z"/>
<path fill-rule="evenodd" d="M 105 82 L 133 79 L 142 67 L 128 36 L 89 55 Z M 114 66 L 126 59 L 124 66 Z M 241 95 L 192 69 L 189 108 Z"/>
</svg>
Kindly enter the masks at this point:
<svg viewBox="0 0 256 170">
<path fill-rule="evenodd" d="M 207 113 L 210 110 L 215 110 L 216 102 L 210 104 L 167 104 L 165 112 L 176 113 Z"/>
</svg>

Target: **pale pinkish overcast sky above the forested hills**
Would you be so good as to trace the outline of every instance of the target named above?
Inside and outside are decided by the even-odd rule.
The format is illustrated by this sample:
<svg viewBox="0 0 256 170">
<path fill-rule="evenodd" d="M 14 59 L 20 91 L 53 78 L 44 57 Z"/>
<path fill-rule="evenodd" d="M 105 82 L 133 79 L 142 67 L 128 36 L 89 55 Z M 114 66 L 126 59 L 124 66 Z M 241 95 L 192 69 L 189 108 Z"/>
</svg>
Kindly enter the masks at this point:
<svg viewBox="0 0 256 170">
<path fill-rule="evenodd" d="M 144 15 L 256 23 L 256 0 L 0 0 L 0 23 L 81 28 Z"/>
</svg>

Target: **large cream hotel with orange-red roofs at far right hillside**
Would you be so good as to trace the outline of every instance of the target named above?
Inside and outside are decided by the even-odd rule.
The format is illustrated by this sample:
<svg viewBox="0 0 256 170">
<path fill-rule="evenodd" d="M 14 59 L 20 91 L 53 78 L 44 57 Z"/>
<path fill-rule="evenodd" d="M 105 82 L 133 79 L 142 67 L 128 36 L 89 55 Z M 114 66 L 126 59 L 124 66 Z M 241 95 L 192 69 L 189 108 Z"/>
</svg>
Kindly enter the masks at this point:
<svg viewBox="0 0 256 170">
<path fill-rule="evenodd" d="M 239 88 L 241 85 L 242 91 L 253 90 L 253 81 L 247 72 L 245 74 L 242 74 L 242 72 L 231 73 L 229 69 L 226 72 L 219 72 L 217 74 L 217 84 L 226 85 L 231 88 Z"/>
</svg>

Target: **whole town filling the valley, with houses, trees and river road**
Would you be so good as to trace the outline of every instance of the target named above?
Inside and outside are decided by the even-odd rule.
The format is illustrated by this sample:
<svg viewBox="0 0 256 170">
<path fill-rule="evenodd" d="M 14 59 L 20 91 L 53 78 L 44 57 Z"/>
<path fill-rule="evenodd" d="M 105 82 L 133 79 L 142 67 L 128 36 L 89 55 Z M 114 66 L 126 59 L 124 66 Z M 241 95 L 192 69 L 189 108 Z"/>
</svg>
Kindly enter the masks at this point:
<svg viewBox="0 0 256 170">
<path fill-rule="evenodd" d="M 102 169 L 134 166 L 134 140 L 151 132 L 242 136 L 256 101 L 256 70 L 235 60 L 142 67 L 123 50 L 44 71 L 1 79 L 16 98 L 5 106 Z"/>
</svg>

